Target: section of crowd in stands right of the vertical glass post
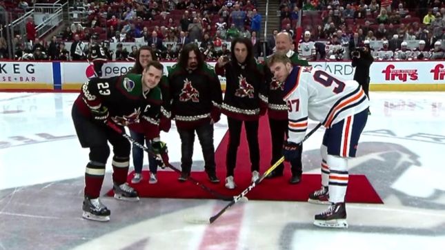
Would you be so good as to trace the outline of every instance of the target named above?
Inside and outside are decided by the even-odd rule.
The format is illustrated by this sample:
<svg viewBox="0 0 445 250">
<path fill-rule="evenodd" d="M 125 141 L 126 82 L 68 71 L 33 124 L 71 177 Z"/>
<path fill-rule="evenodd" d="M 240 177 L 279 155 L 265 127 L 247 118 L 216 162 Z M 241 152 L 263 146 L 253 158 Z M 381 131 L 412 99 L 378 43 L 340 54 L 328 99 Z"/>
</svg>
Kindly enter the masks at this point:
<svg viewBox="0 0 445 250">
<path fill-rule="evenodd" d="M 309 35 L 301 39 L 298 48 L 300 52 L 306 51 L 308 60 L 325 56 L 335 60 L 348 58 L 347 52 L 362 47 L 364 41 L 370 41 L 371 48 L 374 46 L 373 55 L 377 59 L 444 58 L 441 44 L 445 39 L 443 1 L 282 0 L 281 30 L 297 28 L 300 8 L 303 10 L 301 28 Z M 316 41 L 323 44 L 317 46 Z M 387 50 L 392 53 L 386 53 Z M 429 53 L 421 53 L 418 58 L 419 51 Z"/>
</svg>

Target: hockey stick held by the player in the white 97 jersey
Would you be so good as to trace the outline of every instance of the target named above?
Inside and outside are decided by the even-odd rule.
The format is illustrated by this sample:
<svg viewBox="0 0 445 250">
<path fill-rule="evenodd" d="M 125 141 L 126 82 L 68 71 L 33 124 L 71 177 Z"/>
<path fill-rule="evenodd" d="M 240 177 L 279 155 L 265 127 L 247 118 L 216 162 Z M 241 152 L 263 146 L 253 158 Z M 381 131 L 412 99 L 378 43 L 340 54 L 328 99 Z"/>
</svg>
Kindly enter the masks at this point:
<svg viewBox="0 0 445 250">
<path fill-rule="evenodd" d="M 306 134 L 306 136 L 304 136 L 304 139 L 301 140 L 301 143 L 303 143 L 305 140 L 307 140 L 312 134 L 315 133 L 315 131 L 317 131 L 317 129 L 322 125 L 322 123 L 317 124 L 317 126 L 315 126 L 312 130 L 310 130 L 310 132 L 308 134 Z M 233 198 L 233 200 L 226 205 L 226 207 L 224 207 L 223 209 L 221 209 L 221 211 L 219 211 L 217 214 L 215 214 L 215 216 L 210 217 L 209 219 L 206 220 L 192 220 L 191 222 L 194 223 L 206 223 L 206 224 L 212 224 L 212 222 L 215 222 L 215 220 L 217 220 L 217 218 L 219 218 L 219 216 L 221 216 L 229 207 L 232 207 L 233 205 L 235 205 L 235 203 L 239 202 L 239 200 L 241 200 L 242 198 L 244 198 L 244 196 L 246 196 L 246 194 L 252 190 L 254 187 L 256 187 L 259 183 L 261 183 L 262 180 L 264 180 L 264 178 L 266 178 L 266 176 L 268 176 L 274 169 L 276 169 L 281 163 L 283 163 L 284 161 L 284 156 L 282 156 L 281 158 L 279 158 L 279 160 L 277 160 L 277 162 L 272 165 L 271 167 L 269 167 L 269 169 L 266 170 L 266 172 L 264 172 L 264 174 L 258 179 L 255 180 L 255 183 L 252 183 L 252 185 L 248 186 L 246 189 L 244 189 L 244 191 L 241 192 L 241 194 L 239 194 L 238 196 L 235 196 Z"/>
</svg>

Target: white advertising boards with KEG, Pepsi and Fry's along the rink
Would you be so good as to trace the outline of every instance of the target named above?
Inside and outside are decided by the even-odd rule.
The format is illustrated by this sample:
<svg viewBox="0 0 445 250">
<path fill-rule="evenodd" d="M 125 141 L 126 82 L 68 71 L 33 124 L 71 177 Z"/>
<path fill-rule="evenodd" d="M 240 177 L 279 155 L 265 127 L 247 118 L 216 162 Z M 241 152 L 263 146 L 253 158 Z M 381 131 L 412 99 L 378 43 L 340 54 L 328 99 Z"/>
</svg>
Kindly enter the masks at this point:
<svg viewBox="0 0 445 250">
<path fill-rule="evenodd" d="M 103 76 L 126 74 L 133 64 L 106 63 Z M 163 64 L 167 74 L 175 62 Z M 315 61 L 310 65 L 345 80 L 353 79 L 355 71 L 350 61 Z M 88 62 L 0 61 L 0 87 L 4 90 L 79 90 L 93 76 L 94 68 Z M 226 79 L 219 79 L 225 90 Z M 370 67 L 370 82 L 371 90 L 445 90 L 445 61 L 376 61 Z"/>
</svg>

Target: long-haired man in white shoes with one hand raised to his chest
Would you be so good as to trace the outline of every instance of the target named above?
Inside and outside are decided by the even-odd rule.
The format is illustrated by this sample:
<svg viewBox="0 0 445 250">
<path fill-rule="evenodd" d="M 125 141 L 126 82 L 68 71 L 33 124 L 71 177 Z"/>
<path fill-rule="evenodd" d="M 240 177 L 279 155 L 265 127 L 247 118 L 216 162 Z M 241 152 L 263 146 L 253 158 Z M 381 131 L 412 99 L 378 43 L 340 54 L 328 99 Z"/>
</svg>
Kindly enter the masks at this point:
<svg viewBox="0 0 445 250">
<path fill-rule="evenodd" d="M 235 189 L 234 171 L 244 122 L 250 155 L 252 182 L 259 178 L 258 120 L 267 110 L 264 69 L 253 57 L 250 39 L 236 38 L 230 48 L 231 61 L 221 56 L 215 72 L 226 76 L 226 94 L 221 111 L 226 114 L 230 140 L 226 155 L 226 187 Z"/>
</svg>

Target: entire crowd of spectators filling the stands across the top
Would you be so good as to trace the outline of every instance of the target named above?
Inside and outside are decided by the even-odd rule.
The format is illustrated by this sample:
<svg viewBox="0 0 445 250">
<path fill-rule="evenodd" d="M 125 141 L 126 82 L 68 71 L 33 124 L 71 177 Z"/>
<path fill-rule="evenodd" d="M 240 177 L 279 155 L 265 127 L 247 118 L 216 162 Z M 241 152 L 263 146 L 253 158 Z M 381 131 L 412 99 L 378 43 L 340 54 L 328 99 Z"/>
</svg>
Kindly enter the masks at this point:
<svg viewBox="0 0 445 250">
<path fill-rule="evenodd" d="M 82 55 L 75 56 L 79 60 L 88 56 L 92 37 L 107 41 L 105 46 L 148 44 L 164 60 L 177 59 L 186 43 L 198 43 L 206 59 L 216 59 L 235 37 L 252 39 L 255 56 L 267 56 L 274 51 L 274 36 L 279 31 L 289 32 L 295 40 L 301 34 L 295 51 L 307 60 L 348 59 L 364 41 L 370 41 L 377 59 L 419 59 L 419 51 L 431 52 L 421 59 L 442 59 L 440 42 L 445 39 L 445 4 L 439 0 L 281 0 L 279 27 L 266 41 L 266 54 L 259 41 L 262 17 L 256 9 L 257 0 L 75 0 L 71 7 L 83 19 L 61 32 L 56 48 L 65 50 L 66 42 L 81 45 Z M 16 59 L 26 50 L 21 43 L 31 41 L 26 54 L 34 54 L 32 48 L 40 43 L 48 59 L 60 60 L 48 51 L 50 41 L 36 39 L 33 27 L 32 19 L 28 20 L 27 37 L 16 39 Z M 79 52 L 71 48 L 68 59 L 73 59 L 76 50 Z M 119 44 L 115 51 L 119 56 L 112 59 L 131 59 L 132 50 Z M 0 58 L 4 58 L 1 51 Z"/>
</svg>

